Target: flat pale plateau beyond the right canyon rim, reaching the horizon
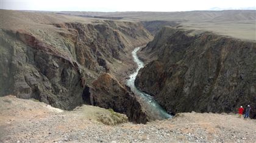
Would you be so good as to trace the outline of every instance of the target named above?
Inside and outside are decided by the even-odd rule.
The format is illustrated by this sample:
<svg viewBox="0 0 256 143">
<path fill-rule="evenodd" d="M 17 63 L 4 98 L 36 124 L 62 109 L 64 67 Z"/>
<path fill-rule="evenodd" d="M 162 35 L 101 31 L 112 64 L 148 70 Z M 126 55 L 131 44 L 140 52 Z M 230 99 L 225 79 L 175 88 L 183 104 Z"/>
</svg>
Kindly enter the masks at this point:
<svg viewBox="0 0 256 143">
<path fill-rule="evenodd" d="M 253 7 L 252 7 L 253 8 Z M 65 15 L 144 21 L 155 34 L 163 25 L 215 32 L 239 39 L 256 39 L 256 10 L 202 10 L 191 12 L 58 12 Z M 154 21 L 153 23 L 150 21 Z M 157 23 L 155 22 L 157 21 Z M 161 21 L 161 22 L 159 22 Z M 171 23 L 170 23 L 171 22 Z M 152 25 L 153 24 L 153 25 Z M 157 25 L 158 24 L 158 25 Z M 152 29 L 152 27 L 155 27 Z M 160 27 L 160 28 L 156 28 Z"/>
</svg>

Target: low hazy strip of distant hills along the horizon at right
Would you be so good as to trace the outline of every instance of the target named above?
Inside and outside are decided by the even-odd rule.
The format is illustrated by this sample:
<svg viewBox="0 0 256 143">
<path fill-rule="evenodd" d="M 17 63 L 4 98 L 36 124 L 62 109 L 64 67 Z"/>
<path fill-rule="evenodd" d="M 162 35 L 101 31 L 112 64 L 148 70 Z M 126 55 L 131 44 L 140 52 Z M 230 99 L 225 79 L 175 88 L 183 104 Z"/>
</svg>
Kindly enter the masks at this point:
<svg viewBox="0 0 256 143">
<path fill-rule="evenodd" d="M 58 12 L 68 15 L 80 16 L 109 16 L 123 17 L 126 19 L 138 19 L 141 21 L 165 20 L 165 21 L 212 21 L 221 17 L 219 21 L 255 20 L 256 10 L 202 10 L 191 12 Z M 228 18 L 228 19 L 227 19 Z M 216 22 L 216 21 L 215 21 Z"/>
</svg>

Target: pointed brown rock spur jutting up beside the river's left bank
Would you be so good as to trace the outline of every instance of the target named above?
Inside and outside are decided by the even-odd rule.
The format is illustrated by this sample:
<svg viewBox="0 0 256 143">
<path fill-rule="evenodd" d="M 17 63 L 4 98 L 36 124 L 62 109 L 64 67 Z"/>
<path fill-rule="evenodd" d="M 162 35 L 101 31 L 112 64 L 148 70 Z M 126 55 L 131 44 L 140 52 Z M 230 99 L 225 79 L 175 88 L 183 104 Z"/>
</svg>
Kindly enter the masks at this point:
<svg viewBox="0 0 256 143">
<path fill-rule="evenodd" d="M 133 93 L 123 87 L 108 73 L 99 76 L 91 87 L 83 93 L 83 99 L 90 105 L 102 108 L 112 108 L 114 111 L 124 113 L 129 121 L 146 123 L 148 118 Z"/>
</svg>

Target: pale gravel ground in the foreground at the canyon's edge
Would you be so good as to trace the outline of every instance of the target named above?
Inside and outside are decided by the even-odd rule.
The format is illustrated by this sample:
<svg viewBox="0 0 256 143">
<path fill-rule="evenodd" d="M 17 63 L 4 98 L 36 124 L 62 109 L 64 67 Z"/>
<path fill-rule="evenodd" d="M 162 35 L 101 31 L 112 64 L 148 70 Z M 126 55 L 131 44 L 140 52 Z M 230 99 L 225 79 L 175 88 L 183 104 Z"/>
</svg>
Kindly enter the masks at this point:
<svg viewBox="0 0 256 143">
<path fill-rule="evenodd" d="M 0 101 L 0 142 L 256 142 L 256 121 L 237 115 L 180 113 L 164 121 L 112 126 L 79 110 L 14 96 Z"/>
</svg>

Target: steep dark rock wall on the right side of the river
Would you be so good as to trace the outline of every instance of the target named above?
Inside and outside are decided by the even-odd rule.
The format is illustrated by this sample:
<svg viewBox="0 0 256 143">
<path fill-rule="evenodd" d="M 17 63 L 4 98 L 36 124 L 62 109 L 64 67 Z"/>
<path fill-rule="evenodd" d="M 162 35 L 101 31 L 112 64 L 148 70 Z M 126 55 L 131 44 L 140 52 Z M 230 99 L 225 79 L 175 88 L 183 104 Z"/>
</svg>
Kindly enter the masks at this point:
<svg viewBox="0 0 256 143">
<path fill-rule="evenodd" d="M 236 112 L 256 118 L 256 44 L 164 27 L 142 53 L 155 57 L 135 80 L 170 113 Z"/>
</svg>

